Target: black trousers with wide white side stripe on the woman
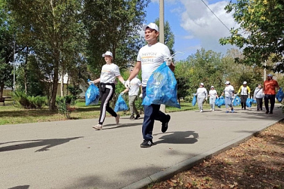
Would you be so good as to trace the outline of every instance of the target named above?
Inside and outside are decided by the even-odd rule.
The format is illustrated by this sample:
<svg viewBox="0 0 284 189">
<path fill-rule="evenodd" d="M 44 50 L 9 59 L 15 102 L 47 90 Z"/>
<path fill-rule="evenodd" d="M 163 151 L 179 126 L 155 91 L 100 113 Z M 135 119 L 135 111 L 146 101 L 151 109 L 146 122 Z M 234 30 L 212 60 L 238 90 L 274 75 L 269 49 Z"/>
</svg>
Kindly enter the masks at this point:
<svg viewBox="0 0 284 189">
<path fill-rule="evenodd" d="M 111 85 L 109 85 L 111 86 Z M 115 88 L 109 89 L 107 87 L 100 89 L 100 118 L 98 119 L 98 124 L 103 125 L 105 121 L 106 111 L 109 112 L 112 116 L 116 117 L 116 112 L 109 107 L 109 101 L 112 100 L 112 96 L 114 96 Z"/>
</svg>

